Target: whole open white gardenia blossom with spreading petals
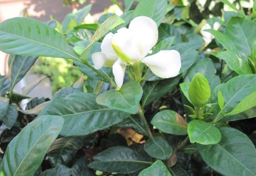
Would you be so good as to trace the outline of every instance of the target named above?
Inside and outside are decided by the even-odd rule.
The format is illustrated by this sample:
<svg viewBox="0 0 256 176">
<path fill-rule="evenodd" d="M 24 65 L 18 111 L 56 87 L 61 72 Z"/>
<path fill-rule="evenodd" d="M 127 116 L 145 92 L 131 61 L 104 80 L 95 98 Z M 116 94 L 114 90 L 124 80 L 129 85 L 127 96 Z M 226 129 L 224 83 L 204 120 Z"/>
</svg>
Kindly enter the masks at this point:
<svg viewBox="0 0 256 176">
<path fill-rule="evenodd" d="M 129 28 L 109 33 L 101 43 L 101 52 L 92 54 L 94 67 L 112 66 L 118 88 L 123 84 L 127 64 L 142 62 L 160 78 L 172 78 L 179 74 L 180 54 L 176 50 L 161 50 L 146 57 L 158 41 L 158 27 L 154 20 L 139 16 L 131 20 Z"/>
</svg>

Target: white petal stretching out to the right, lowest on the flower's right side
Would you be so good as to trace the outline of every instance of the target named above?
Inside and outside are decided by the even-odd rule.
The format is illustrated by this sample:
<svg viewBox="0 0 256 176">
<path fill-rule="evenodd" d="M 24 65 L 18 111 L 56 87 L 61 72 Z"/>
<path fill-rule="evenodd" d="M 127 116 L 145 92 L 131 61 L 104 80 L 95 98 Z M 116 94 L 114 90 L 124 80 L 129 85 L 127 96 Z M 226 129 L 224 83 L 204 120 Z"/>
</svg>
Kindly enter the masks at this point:
<svg viewBox="0 0 256 176">
<path fill-rule="evenodd" d="M 161 50 L 159 53 L 142 59 L 150 70 L 160 78 L 172 78 L 179 74 L 180 53 L 176 50 Z"/>
</svg>

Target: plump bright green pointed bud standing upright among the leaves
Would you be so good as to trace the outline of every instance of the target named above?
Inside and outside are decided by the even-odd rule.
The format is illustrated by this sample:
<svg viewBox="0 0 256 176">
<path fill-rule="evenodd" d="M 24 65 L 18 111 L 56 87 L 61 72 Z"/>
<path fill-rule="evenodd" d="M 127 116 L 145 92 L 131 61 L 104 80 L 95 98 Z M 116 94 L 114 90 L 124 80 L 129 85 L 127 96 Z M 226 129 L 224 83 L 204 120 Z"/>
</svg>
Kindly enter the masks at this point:
<svg viewBox="0 0 256 176">
<path fill-rule="evenodd" d="M 210 98 L 210 86 L 208 80 L 201 73 L 197 73 L 189 85 L 189 99 L 196 108 L 204 106 Z"/>
</svg>

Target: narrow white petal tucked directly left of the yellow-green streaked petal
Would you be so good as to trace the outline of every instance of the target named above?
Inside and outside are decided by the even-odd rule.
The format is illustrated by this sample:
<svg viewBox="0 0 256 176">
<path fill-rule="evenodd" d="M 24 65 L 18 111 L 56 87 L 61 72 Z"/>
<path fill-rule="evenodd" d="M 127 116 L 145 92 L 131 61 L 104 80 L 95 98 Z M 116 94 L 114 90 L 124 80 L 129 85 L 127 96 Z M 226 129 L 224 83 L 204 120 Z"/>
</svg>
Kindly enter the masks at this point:
<svg viewBox="0 0 256 176">
<path fill-rule="evenodd" d="M 104 53 L 106 55 L 108 60 L 117 61 L 118 56 L 117 56 L 117 54 L 115 54 L 115 51 L 112 46 L 113 36 L 114 36 L 113 33 L 110 32 L 110 33 L 108 33 L 108 35 L 106 35 L 104 37 L 104 39 L 102 40 L 102 43 L 101 43 L 101 51 L 102 51 L 102 53 Z"/>
</svg>

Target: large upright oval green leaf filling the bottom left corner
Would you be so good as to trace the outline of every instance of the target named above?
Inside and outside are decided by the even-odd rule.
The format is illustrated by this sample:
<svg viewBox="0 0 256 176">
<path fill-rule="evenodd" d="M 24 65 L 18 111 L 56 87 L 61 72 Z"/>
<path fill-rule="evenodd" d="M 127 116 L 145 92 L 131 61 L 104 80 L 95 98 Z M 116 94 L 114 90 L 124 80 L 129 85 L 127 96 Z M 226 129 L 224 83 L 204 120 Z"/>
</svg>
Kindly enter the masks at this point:
<svg viewBox="0 0 256 176">
<path fill-rule="evenodd" d="M 7 147 L 1 165 L 3 173 L 34 175 L 62 126 L 63 118 L 45 115 L 24 127 Z"/>
</svg>

